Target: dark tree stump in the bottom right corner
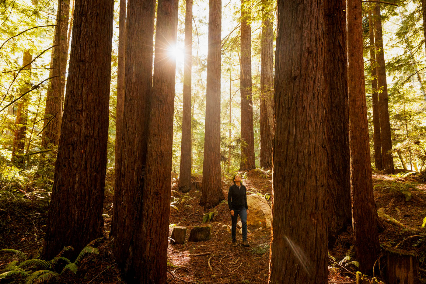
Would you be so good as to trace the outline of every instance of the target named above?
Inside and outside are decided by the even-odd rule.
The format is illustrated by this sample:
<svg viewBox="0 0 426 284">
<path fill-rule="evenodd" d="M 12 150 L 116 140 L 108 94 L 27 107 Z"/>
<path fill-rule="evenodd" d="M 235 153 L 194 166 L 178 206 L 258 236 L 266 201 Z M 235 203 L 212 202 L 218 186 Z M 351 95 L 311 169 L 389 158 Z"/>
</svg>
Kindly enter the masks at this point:
<svg viewBox="0 0 426 284">
<path fill-rule="evenodd" d="M 389 284 L 418 284 L 418 255 L 386 250 L 386 279 Z"/>
</svg>

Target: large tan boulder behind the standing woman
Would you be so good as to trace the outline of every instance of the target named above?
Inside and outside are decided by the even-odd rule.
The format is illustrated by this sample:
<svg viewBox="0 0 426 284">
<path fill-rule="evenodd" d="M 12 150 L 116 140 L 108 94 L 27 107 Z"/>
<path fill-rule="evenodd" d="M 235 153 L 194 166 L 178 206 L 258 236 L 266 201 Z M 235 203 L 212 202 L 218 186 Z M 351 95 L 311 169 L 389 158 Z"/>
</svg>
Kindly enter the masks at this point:
<svg viewBox="0 0 426 284">
<path fill-rule="evenodd" d="M 248 225 L 263 228 L 271 227 L 271 207 L 263 196 L 257 194 L 247 195 L 247 205 L 249 209 L 247 215 Z"/>
</svg>

